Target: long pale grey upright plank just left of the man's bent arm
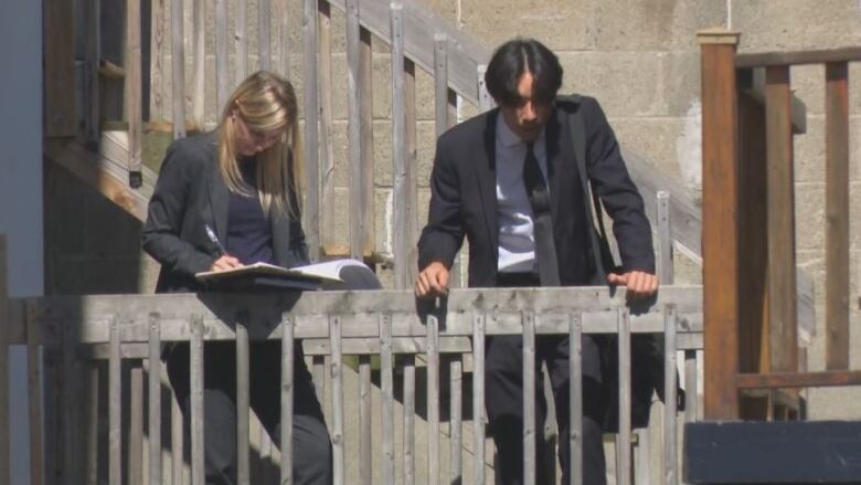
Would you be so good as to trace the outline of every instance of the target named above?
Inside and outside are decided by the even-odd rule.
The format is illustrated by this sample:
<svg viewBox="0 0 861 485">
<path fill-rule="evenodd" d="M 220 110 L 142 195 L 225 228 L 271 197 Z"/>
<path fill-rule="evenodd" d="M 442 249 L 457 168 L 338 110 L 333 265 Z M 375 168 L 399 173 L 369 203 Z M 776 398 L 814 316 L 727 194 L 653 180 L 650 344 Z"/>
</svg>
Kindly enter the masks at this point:
<svg viewBox="0 0 861 485">
<path fill-rule="evenodd" d="M 391 56 L 392 56 L 392 187 L 394 200 L 393 251 L 395 288 L 405 289 L 412 284 L 408 267 L 410 254 L 410 211 L 408 211 L 408 161 L 406 127 L 406 73 L 404 62 L 404 21 L 403 6 L 392 2 L 391 15 Z"/>
</svg>

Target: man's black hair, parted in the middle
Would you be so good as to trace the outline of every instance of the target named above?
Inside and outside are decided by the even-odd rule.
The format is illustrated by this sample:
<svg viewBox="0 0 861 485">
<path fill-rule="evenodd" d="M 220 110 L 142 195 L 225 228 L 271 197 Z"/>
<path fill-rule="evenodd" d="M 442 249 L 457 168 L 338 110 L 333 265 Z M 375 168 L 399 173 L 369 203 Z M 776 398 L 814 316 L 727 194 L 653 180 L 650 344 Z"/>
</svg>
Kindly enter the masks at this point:
<svg viewBox="0 0 861 485">
<path fill-rule="evenodd" d="M 520 102 L 518 81 L 529 71 L 534 77 L 535 98 L 550 104 L 562 86 L 562 65 L 550 49 L 534 39 L 513 39 L 500 45 L 485 72 L 487 91 L 499 105 Z"/>
</svg>

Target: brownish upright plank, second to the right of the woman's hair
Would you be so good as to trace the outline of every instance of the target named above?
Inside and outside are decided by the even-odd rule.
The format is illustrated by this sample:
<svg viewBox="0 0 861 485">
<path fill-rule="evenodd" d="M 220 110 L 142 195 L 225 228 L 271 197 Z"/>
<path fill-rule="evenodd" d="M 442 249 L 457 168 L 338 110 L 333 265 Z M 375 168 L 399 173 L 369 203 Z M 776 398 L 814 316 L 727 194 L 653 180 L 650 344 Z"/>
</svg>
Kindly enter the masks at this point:
<svg viewBox="0 0 861 485">
<path fill-rule="evenodd" d="M 317 2 L 317 83 L 320 93 L 320 241 L 325 254 L 338 254 L 336 247 L 334 155 L 332 133 L 332 48 L 331 6 Z"/>
</svg>

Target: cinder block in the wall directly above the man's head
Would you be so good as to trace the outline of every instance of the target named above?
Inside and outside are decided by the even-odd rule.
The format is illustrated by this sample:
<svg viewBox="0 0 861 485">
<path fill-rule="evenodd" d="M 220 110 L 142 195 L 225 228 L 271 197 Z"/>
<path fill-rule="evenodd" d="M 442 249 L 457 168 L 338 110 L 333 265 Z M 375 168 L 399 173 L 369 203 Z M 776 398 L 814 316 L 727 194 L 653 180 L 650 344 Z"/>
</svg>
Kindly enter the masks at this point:
<svg viewBox="0 0 861 485">
<path fill-rule="evenodd" d="M 517 35 L 531 36 L 556 51 L 595 48 L 595 2 L 587 0 L 468 0 L 461 2 L 463 29 L 493 49 Z"/>
</svg>

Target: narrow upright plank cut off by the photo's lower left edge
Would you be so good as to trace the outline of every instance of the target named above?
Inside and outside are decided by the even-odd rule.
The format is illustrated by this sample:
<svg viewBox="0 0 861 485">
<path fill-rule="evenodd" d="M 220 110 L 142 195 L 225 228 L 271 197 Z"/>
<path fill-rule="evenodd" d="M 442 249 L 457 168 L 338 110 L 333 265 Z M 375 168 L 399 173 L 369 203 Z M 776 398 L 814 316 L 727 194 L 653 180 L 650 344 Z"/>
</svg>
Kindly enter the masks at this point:
<svg viewBox="0 0 861 485">
<path fill-rule="evenodd" d="M 11 483 L 9 422 L 9 246 L 0 234 L 0 482 Z"/>
</svg>

